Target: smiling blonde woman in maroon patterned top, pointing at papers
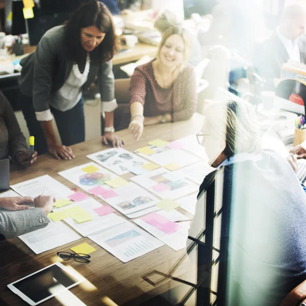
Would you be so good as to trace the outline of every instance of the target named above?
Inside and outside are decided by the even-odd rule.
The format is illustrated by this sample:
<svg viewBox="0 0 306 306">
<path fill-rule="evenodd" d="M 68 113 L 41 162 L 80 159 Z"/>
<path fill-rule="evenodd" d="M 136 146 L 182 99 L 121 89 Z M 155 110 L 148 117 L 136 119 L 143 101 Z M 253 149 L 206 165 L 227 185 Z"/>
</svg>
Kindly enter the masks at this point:
<svg viewBox="0 0 306 306">
<path fill-rule="evenodd" d="M 136 141 L 144 125 L 187 120 L 194 113 L 196 80 L 188 64 L 190 48 L 189 33 L 170 28 L 163 35 L 158 57 L 135 69 L 130 109 L 122 116 L 120 129 L 129 126 Z"/>
</svg>

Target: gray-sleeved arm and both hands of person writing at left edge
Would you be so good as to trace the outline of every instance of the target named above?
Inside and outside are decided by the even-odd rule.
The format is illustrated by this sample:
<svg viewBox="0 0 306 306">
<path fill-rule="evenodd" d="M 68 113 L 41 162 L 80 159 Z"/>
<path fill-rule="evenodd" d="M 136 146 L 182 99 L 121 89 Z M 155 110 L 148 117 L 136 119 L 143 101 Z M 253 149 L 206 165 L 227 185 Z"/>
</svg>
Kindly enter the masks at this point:
<svg viewBox="0 0 306 306">
<path fill-rule="evenodd" d="M 0 240 L 27 234 L 48 225 L 47 215 L 55 201 L 52 195 L 40 195 L 35 199 L 25 196 L 0 198 Z M 29 204 L 34 203 L 35 208 Z"/>
</svg>

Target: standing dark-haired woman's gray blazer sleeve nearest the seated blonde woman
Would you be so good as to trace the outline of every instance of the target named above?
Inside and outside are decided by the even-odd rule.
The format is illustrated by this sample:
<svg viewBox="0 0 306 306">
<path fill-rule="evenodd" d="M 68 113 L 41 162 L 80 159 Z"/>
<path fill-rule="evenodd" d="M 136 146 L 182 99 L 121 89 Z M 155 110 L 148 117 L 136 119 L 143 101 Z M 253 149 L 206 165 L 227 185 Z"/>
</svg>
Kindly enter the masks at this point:
<svg viewBox="0 0 306 306">
<path fill-rule="evenodd" d="M 101 65 L 97 74 L 97 82 L 101 96 L 101 109 L 105 112 L 114 111 L 118 105 L 115 99 L 115 78 L 113 73 L 113 63 L 108 61 Z"/>
</svg>

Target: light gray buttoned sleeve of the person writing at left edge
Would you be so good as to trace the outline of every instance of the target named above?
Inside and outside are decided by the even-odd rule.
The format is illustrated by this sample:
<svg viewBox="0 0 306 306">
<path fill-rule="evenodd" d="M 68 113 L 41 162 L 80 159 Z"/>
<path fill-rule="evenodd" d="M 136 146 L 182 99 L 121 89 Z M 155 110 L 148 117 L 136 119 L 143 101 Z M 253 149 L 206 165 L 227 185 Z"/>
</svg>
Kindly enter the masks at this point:
<svg viewBox="0 0 306 306">
<path fill-rule="evenodd" d="M 1 210 L 0 234 L 10 239 L 44 228 L 49 222 L 41 208 L 20 211 Z"/>
</svg>

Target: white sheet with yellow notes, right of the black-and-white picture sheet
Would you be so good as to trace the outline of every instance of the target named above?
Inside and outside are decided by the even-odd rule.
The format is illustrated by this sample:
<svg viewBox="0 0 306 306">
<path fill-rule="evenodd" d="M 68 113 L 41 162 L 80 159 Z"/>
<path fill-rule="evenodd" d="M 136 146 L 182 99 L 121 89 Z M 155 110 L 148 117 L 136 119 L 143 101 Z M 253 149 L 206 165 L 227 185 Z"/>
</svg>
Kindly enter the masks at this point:
<svg viewBox="0 0 306 306">
<path fill-rule="evenodd" d="M 150 162 L 158 164 L 160 166 L 166 166 L 168 164 L 174 163 L 177 166 L 185 167 L 200 161 L 198 157 L 191 155 L 189 152 L 186 152 L 181 149 L 170 149 L 167 146 L 149 146 L 149 148 L 154 150 L 155 154 L 144 155 L 142 153 L 139 153 L 137 150 L 135 152 L 139 156 L 146 158 Z"/>
</svg>

